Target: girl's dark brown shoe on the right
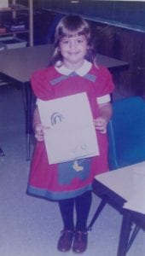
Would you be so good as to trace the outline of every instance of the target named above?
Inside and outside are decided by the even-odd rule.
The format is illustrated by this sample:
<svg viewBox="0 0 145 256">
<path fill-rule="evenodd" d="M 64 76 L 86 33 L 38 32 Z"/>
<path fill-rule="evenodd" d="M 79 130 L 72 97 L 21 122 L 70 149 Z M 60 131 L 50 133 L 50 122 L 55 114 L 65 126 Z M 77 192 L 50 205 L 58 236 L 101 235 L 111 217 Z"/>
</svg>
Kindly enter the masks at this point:
<svg viewBox="0 0 145 256">
<path fill-rule="evenodd" d="M 73 252 L 84 253 L 88 245 L 88 233 L 77 231 L 73 241 Z"/>
</svg>

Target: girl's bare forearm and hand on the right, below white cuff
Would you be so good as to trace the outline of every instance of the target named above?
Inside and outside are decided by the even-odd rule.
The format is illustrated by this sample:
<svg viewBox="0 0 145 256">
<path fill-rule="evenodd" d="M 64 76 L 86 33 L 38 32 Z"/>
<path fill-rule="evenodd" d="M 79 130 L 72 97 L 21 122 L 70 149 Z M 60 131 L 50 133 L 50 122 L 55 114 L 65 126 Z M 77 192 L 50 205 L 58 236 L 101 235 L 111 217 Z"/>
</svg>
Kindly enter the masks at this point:
<svg viewBox="0 0 145 256">
<path fill-rule="evenodd" d="M 99 104 L 100 116 L 94 120 L 96 130 L 102 134 L 107 132 L 107 123 L 112 116 L 112 106 L 110 102 Z"/>
</svg>

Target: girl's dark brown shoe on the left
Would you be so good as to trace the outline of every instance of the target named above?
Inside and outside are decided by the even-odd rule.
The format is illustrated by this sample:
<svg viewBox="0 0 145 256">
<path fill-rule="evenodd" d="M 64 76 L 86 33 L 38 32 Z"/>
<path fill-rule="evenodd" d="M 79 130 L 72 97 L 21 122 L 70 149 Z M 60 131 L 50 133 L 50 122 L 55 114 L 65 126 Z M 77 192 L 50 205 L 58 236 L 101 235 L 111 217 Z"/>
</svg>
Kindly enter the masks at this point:
<svg viewBox="0 0 145 256">
<path fill-rule="evenodd" d="M 57 249 L 61 252 L 68 252 L 72 247 L 73 230 L 62 230 L 61 237 L 57 244 Z"/>
</svg>

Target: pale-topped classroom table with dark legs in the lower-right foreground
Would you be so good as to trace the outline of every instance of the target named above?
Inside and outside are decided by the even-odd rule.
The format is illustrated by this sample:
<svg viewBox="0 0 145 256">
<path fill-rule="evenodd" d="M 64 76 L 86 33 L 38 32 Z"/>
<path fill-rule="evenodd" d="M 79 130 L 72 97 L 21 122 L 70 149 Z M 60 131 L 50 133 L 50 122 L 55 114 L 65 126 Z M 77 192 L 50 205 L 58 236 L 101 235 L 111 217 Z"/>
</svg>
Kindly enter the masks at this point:
<svg viewBox="0 0 145 256">
<path fill-rule="evenodd" d="M 107 203 L 113 206 L 123 216 L 117 256 L 125 256 L 138 231 L 145 230 L 145 161 L 97 175 L 93 191 L 102 198 L 102 202 L 88 230 L 92 229 Z M 136 226 L 131 231 L 132 224 Z"/>
</svg>

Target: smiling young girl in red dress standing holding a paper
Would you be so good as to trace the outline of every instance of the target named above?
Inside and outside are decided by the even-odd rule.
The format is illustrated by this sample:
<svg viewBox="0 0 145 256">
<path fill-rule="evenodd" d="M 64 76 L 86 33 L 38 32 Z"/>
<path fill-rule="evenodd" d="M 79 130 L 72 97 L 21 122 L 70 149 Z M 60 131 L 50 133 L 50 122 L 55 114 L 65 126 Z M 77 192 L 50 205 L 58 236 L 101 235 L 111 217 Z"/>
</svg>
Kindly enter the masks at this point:
<svg viewBox="0 0 145 256">
<path fill-rule="evenodd" d="M 73 160 L 49 165 L 44 147 L 47 127 L 41 125 L 38 108 L 35 109 L 33 129 L 37 143 L 27 189 L 32 195 L 58 201 L 63 221 L 58 250 L 67 252 L 73 248 L 73 252 L 83 253 L 87 248 L 91 184 L 96 174 L 108 171 L 106 132 L 112 114 L 110 93 L 114 87 L 107 68 L 94 64 L 90 27 L 85 20 L 78 15 L 61 19 L 55 30 L 55 55 L 51 66 L 33 73 L 31 82 L 38 100 L 49 101 L 85 92 L 90 102 L 100 155 L 77 160 L 77 166 L 81 167 L 79 172 Z"/>
</svg>

